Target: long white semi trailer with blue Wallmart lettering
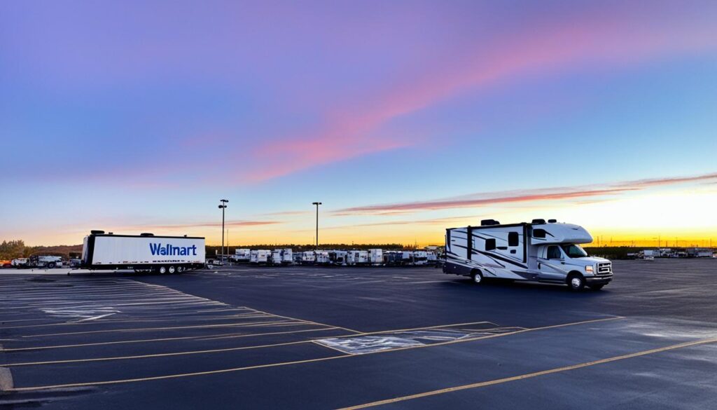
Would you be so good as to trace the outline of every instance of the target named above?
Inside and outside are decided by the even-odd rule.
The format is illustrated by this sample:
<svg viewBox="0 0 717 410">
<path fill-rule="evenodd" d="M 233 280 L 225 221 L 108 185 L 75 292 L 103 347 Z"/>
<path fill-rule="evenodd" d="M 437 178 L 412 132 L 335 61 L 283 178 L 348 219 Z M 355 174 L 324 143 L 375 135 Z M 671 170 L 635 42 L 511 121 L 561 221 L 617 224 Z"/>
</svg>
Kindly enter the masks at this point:
<svg viewBox="0 0 717 410">
<path fill-rule="evenodd" d="M 92 230 L 82 243 L 82 269 L 181 273 L 204 267 L 204 238 L 115 235 Z"/>
</svg>

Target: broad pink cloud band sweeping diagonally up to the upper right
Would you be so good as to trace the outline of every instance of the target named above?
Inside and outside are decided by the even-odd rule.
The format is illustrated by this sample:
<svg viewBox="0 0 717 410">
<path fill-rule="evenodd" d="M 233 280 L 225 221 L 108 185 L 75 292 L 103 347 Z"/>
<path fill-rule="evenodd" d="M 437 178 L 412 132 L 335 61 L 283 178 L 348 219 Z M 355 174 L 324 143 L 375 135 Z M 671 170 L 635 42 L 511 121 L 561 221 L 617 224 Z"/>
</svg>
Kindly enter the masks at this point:
<svg viewBox="0 0 717 410">
<path fill-rule="evenodd" d="M 682 26 L 680 26 L 682 24 Z M 407 75 L 383 93 L 326 113 L 327 124 L 315 134 L 266 141 L 253 150 L 260 159 L 249 179 L 267 180 L 309 167 L 375 152 L 414 146 L 419 139 L 376 137 L 381 126 L 453 95 L 496 85 L 513 77 L 560 72 L 576 65 L 635 64 L 659 55 L 715 47 L 708 32 L 676 22 L 670 31 L 657 24 L 635 25 L 629 18 L 590 15 L 542 29 L 518 32 L 488 50 L 467 45 L 465 55 L 433 67 L 419 77 Z M 467 57 L 466 57 L 467 56 Z"/>
</svg>

